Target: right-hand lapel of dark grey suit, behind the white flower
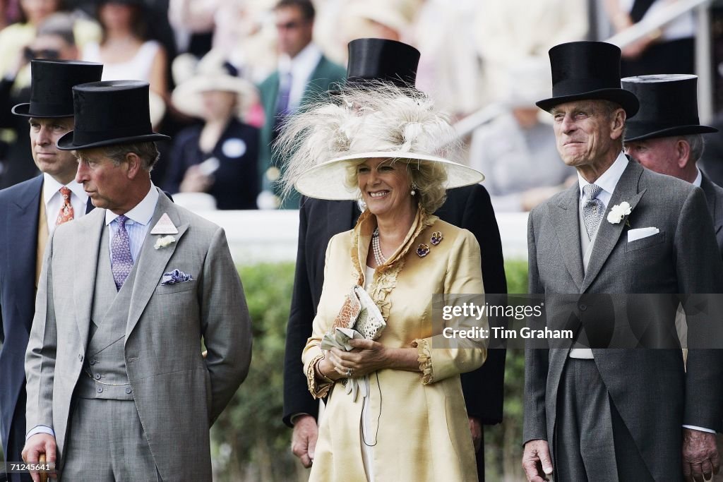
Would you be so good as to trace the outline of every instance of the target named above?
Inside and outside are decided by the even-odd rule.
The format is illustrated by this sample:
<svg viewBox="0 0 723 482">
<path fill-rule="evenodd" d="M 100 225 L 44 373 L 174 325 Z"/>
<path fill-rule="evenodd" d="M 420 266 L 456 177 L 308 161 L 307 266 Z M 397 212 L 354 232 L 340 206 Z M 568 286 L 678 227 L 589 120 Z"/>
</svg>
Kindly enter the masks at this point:
<svg viewBox="0 0 723 482">
<path fill-rule="evenodd" d="M 612 197 L 610 197 L 610 202 L 607 203 L 605 215 L 602 221 L 600 221 L 595 244 L 592 246 L 590 263 L 588 264 L 588 269 L 583 279 L 581 293 L 584 293 L 595 280 L 625 228 L 625 219 L 617 224 L 609 223 L 607 214 L 613 206 L 619 205 L 623 201 L 627 201 L 630 204 L 630 209 L 633 210 L 633 213 L 635 212 L 636 205 L 638 205 L 638 202 L 640 202 L 646 191 L 646 189 L 641 189 L 641 191 L 638 192 L 638 183 L 640 182 L 642 174 L 643 168 L 638 165 L 638 163 L 628 161 L 628 166 L 625 168 L 625 171 L 623 171 L 623 176 L 620 176 L 620 180 L 617 181 L 615 191 L 612 193 Z"/>
</svg>

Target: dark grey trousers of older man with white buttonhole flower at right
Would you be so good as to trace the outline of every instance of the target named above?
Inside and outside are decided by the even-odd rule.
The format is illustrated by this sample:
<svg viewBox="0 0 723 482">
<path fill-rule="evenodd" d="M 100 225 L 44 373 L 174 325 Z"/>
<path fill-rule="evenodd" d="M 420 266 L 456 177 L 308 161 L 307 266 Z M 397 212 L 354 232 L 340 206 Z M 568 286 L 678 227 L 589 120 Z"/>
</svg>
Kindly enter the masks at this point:
<svg viewBox="0 0 723 482">
<path fill-rule="evenodd" d="M 568 358 L 557 397 L 555 481 L 653 481 L 594 360 Z"/>
</svg>

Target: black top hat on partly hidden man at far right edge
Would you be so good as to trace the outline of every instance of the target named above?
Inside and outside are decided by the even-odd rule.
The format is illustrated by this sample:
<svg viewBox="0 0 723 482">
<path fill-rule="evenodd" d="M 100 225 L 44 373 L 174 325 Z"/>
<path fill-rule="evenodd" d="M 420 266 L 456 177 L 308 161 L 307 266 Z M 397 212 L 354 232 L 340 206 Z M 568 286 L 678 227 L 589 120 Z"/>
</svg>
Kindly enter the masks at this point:
<svg viewBox="0 0 723 482">
<path fill-rule="evenodd" d="M 635 119 L 625 123 L 625 142 L 706 134 L 718 129 L 698 119 L 698 77 L 688 74 L 625 77 L 623 88 L 640 99 Z"/>
</svg>

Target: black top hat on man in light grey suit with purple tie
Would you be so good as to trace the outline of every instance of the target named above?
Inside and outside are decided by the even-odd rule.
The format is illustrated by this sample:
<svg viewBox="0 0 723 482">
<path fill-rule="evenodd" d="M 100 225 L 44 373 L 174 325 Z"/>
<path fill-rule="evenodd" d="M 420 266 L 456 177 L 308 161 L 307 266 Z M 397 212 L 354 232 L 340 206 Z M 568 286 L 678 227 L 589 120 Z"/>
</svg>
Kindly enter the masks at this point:
<svg viewBox="0 0 723 482">
<path fill-rule="evenodd" d="M 150 126 L 148 82 L 111 80 L 73 87 L 75 130 L 58 139 L 61 150 L 168 140 Z"/>
</svg>

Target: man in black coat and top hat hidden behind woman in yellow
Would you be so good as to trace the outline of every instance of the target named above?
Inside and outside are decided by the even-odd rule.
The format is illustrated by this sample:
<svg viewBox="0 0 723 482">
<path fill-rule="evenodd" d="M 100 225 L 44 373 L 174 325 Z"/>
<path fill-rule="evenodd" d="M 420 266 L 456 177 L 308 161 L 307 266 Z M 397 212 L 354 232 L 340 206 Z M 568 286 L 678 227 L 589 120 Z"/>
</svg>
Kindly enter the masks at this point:
<svg viewBox="0 0 723 482">
<path fill-rule="evenodd" d="M 352 40 L 348 48 L 346 82 L 369 85 L 369 88 L 374 88 L 374 82 L 414 87 L 419 63 L 419 51 L 416 48 L 377 38 Z M 311 465 L 314 457 L 319 403 L 309 394 L 307 378 L 301 365 L 301 350 L 312 333 L 312 323 L 324 283 L 327 244 L 335 234 L 354 228 L 360 214 L 356 202 L 301 198 L 294 296 L 286 329 L 283 421 L 288 426 L 294 426 L 292 450 L 306 467 Z M 450 189 L 445 205 L 435 215 L 474 233 L 482 251 L 484 291 L 507 293 L 500 231 L 487 190 L 479 184 Z M 494 425 L 502 421 L 504 374 L 503 349 L 489 350 L 487 361 L 480 369 L 462 374 L 480 480 L 484 480 L 482 425 Z"/>
</svg>

